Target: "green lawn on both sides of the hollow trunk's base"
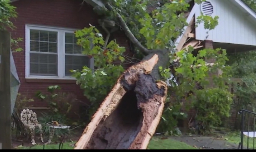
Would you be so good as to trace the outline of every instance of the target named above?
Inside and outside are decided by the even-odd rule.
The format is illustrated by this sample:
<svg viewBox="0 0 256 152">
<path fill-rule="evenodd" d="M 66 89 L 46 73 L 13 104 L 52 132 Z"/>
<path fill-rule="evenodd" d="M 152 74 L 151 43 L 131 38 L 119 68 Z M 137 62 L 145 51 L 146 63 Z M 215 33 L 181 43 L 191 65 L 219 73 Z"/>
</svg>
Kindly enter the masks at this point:
<svg viewBox="0 0 256 152">
<path fill-rule="evenodd" d="M 64 143 L 62 149 L 74 149 L 74 143 Z M 19 146 L 17 149 L 30 149 L 30 147 Z M 43 145 L 32 146 L 31 149 L 43 149 Z M 45 145 L 45 149 L 59 149 L 59 144 Z M 193 146 L 187 145 L 173 139 L 160 139 L 153 137 L 148 145 L 148 149 L 196 149 Z"/>
</svg>

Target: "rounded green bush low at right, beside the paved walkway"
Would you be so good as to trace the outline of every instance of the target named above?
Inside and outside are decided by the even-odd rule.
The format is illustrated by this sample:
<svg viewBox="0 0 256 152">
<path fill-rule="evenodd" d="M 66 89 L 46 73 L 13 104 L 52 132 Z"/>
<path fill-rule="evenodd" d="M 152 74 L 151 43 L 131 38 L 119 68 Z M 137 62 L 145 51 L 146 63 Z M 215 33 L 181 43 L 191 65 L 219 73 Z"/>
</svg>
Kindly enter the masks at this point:
<svg viewBox="0 0 256 152">
<path fill-rule="evenodd" d="M 229 117 L 231 104 L 232 94 L 226 90 L 198 90 L 194 96 L 193 107 L 197 111 L 196 120 L 200 124 L 200 132 L 209 131 L 211 127 L 220 125 L 224 117 Z"/>
</svg>

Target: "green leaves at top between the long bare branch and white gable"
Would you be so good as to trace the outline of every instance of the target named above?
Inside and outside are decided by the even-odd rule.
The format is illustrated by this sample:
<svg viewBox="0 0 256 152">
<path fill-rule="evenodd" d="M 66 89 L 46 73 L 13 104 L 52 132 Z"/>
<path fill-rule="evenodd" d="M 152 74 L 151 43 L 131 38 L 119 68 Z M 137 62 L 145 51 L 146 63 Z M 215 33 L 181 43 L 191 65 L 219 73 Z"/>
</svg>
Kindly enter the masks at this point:
<svg viewBox="0 0 256 152">
<path fill-rule="evenodd" d="M 185 13 L 188 11 L 187 0 L 104 0 L 115 7 L 115 10 L 122 15 L 131 32 L 141 44 L 148 49 L 172 49 L 173 39 L 176 39 L 184 26 L 187 26 Z M 205 0 L 195 0 L 201 3 Z M 109 13 L 108 19 L 115 18 L 116 11 Z M 218 17 L 203 17 L 199 22 L 213 28 Z M 213 24 L 212 24 L 213 23 Z M 211 30 L 211 29 L 210 29 Z"/>
</svg>

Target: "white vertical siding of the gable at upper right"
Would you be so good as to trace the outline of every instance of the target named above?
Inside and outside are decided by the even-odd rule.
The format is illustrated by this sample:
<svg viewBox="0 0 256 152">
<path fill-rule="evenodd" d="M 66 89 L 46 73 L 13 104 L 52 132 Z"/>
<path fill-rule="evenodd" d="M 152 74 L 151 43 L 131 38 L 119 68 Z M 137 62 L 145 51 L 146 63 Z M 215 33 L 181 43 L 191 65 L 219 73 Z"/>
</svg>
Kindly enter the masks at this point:
<svg viewBox="0 0 256 152">
<path fill-rule="evenodd" d="M 212 40 L 219 43 L 233 43 L 256 46 L 256 24 L 252 23 L 230 0 L 207 0 L 213 6 L 212 16 L 219 16 L 219 25 L 207 34 L 203 24 L 196 28 L 197 40 Z M 197 9 L 195 18 L 201 14 Z"/>
</svg>

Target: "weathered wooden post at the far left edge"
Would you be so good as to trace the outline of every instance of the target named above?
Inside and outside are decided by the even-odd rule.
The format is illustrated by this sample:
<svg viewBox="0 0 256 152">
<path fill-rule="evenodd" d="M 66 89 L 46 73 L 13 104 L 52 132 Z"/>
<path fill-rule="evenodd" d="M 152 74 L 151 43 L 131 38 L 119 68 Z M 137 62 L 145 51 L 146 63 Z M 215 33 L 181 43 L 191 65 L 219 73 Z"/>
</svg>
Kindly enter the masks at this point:
<svg viewBox="0 0 256 152">
<path fill-rule="evenodd" d="M 0 145 L 2 149 L 11 149 L 10 50 L 10 33 L 0 31 Z"/>
</svg>

